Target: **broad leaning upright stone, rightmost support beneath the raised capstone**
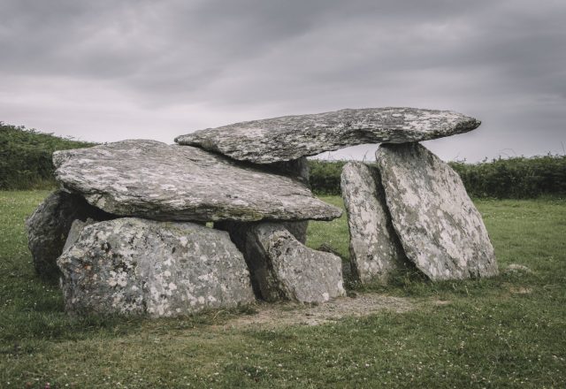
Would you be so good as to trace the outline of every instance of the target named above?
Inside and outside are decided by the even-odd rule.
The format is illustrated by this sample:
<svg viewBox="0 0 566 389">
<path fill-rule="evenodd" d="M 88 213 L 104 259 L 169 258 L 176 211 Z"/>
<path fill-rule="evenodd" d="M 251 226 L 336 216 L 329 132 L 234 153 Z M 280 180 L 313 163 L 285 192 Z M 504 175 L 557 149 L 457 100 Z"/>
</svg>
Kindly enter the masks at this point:
<svg viewBox="0 0 566 389">
<path fill-rule="evenodd" d="M 498 273 L 486 226 L 462 179 L 418 143 L 376 153 L 386 202 L 405 254 L 432 280 Z"/>
</svg>

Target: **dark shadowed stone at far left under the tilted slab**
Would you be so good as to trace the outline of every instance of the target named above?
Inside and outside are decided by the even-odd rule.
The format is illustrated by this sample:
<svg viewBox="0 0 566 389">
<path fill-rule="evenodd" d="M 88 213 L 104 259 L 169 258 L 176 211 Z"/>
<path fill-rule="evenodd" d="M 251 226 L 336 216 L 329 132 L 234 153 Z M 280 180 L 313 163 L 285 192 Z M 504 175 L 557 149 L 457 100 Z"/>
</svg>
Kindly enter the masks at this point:
<svg viewBox="0 0 566 389">
<path fill-rule="evenodd" d="M 27 217 L 27 245 L 34 267 L 43 278 L 57 278 L 57 257 L 63 252 L 69 229 L 76 219 L 107 220 L 111 215 L 88 204 L 80 195 L 57 190 Z"/>
</svg>

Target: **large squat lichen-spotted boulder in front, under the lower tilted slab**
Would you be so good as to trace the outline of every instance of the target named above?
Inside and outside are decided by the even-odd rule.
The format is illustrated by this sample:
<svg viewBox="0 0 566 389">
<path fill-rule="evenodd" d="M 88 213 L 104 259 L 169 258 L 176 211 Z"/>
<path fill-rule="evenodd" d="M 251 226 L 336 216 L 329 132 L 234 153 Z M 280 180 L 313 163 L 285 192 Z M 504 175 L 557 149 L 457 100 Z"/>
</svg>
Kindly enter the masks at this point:
<svg viewBox="0 0 566 389">
<path fill-rule="evenodd" d="M 228 234 L 193 223 L 125 217 L 87 225 L 57 264 L 71 312 L 174 317 L 255 301 Z"/>
</svg>

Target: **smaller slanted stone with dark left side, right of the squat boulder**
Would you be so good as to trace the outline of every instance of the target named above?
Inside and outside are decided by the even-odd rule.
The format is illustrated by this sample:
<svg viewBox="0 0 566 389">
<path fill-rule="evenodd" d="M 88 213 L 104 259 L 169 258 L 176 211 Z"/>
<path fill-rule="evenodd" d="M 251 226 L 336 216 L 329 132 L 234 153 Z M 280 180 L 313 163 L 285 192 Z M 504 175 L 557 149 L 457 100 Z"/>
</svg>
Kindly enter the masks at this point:
<svg viewBox="0 0 566 389">
<path fill-rule="evenodd" d="M 253 225 L 244 249 L 265 301 L 324 302 L 346 294 L 340 257 L 307 248 L 280 224 Z"/>
</svg>

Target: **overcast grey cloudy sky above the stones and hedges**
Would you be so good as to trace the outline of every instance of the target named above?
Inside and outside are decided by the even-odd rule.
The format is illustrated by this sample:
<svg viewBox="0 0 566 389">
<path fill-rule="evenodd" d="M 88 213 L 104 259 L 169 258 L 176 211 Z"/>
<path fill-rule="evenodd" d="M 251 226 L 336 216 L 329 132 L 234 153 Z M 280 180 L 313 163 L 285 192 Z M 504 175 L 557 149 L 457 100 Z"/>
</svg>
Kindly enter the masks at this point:
<svg viewBox="0 0 566 389">
<path fill-rule="evenodd" d="M 482 120 L 447 160 L 566 148 L 564 0 L 0 0 L 0 56 L 0 121 L 80 140 L 414 106 Z"/>
</svg>

